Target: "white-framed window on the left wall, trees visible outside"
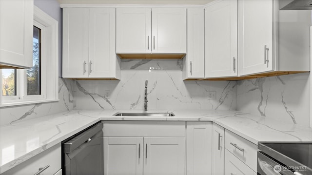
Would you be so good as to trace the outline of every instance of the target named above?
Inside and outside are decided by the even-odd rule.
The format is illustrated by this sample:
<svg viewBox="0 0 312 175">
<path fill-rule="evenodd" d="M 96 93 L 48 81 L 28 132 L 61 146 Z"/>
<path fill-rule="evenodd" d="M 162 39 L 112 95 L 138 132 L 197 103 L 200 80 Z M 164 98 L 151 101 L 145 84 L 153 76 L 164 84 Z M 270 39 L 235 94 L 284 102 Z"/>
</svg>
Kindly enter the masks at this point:
<svg viewBox="0 0 312 175">
<path fill-rule="evenodd" d="M 0 71 L 1 106 L 58 100 L 58 21 L 34 6 L 33 31 L 33 67 Z"/>
</svg>

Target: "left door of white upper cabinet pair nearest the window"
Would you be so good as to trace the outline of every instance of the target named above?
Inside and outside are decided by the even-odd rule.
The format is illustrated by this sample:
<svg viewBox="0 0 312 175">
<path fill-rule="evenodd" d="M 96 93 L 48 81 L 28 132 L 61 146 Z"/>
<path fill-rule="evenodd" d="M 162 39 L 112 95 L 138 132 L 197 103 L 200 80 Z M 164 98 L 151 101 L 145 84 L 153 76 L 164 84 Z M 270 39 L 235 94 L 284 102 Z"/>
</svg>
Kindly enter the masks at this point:
<svg viewBox="0 0 312 175">
<path fill-rule="evenodd" d="M 89 8 L 63 8 L 63 78 L 89 77 Z"/>
</svg>

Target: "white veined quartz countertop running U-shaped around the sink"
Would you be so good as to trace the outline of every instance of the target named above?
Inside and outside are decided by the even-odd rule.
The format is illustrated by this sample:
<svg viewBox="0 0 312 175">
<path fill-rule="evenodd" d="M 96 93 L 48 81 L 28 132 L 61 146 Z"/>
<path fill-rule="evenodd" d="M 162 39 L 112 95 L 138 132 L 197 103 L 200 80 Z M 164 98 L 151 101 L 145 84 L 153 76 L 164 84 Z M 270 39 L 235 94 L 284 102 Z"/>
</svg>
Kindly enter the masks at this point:
<svg viewBox="0 0 312 175">
<path fill-rule="evenodd" d="M 117 110 L 73 110 L 0 127 L 0 173 L 36 156 L 100 120 L 214 121 L 258 141 L 312 141 L 312 129 L 227 110 L 172 110 L 175 117 L 116 117 Z M 135 112 L 135 111 L 132 111 Z M 159 111 L 158 111 L 159 112 Z"/>
</svg>

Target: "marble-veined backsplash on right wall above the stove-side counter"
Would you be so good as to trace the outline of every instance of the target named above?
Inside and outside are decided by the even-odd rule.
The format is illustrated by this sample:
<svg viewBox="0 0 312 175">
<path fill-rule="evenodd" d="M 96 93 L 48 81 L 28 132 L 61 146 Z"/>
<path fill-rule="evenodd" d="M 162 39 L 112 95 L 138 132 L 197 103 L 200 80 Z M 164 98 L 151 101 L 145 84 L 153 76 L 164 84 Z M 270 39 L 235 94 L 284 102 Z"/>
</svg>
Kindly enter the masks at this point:
<svg viewBox="0 0 312 175">
<path fill-rule="evenodd" d="M 236 110 L 309 127 L 309 74 L 237 81 Z"/>
</svg>

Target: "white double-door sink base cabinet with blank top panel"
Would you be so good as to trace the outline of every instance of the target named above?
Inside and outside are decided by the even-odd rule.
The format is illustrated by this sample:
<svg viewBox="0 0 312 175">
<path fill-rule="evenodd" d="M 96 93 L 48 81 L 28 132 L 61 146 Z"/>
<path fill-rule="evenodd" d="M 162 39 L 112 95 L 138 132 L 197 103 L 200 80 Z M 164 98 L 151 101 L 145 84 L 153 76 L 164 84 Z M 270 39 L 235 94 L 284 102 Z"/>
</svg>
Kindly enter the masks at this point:
<svg viewBox="0 0 312 175">
<path fill-rule="evenodd" d="M 104 175 L 185 174 L 185 122 L 105 121 L 103 131 Z"/>
</svg>

